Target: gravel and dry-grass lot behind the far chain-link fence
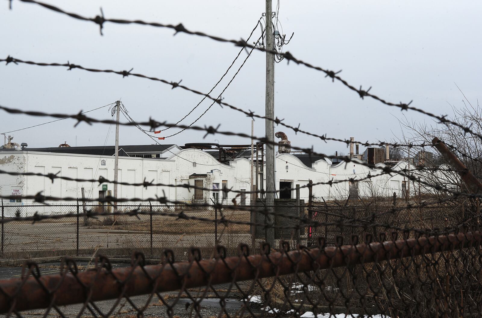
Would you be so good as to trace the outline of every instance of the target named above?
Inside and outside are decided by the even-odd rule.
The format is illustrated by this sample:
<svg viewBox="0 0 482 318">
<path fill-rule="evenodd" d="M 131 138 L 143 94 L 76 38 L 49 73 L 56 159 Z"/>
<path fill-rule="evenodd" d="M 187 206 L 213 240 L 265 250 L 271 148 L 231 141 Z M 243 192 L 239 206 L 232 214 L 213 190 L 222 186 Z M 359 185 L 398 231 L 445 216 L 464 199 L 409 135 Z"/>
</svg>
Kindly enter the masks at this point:
<svg viewBox="0 0 482 318">
<path fill-rule="evenodd" d="M 214 212 L 193 212 L 205 219 L 214 219 Z M 220 217 L 220 216 L 218 216 Z M 226 218 L 249 221 L 249 212 L 229 213 Z M 152 247 L 187 248 L 215 245 L 214 222 L 179 219 L 177 216 L 153 216 Z M 235 248 L 239 242 L 250 242 L 248 225 L 219 223 L 220 244 Z M 72 254 L 77 248 L 77 218 L 62 218 L 40 222 L 8 222 L 4 224 L 4 257 L 42 257 Z M 150 249 L 149 216 L 112 216 L 90 219 L 87 226 L 79 220 L 79 253 L 89 254 L 96 250 L 117 250 L 114 254 L 130 254 L 131 250 Z"/>
</svg>

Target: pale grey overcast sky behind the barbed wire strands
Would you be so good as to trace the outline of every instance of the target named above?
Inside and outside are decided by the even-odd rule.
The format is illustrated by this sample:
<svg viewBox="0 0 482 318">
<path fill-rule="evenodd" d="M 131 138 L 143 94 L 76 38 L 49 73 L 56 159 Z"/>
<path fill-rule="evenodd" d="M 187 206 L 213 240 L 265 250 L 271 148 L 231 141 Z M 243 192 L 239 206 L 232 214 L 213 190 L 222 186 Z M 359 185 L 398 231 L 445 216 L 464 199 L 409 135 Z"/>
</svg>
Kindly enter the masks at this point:
<svg viewBox="0 0 482 318">
<path fill-rule="evenodd" d="M 108 18 L 142 19 L 151 22 L 183 23 L 226 38 L 247 38 L 261 13 L 264 1 L 59 1 L 45 0 L 64 10 L 95 16 L 102 6 Z M 273 10 L 276 1 L 273 1 Z M 169 81 L 183 80 L 189 88 L 208 92 L 239 51 L 232 44 L 178 34 L 170 29 L 141 25 L 97 25 L 72 19 L 35 4 L 8 1 L 0 6 L 0 56 L 80 64 L 85 67 L 129 70 Z M 295 57 L 327 69 L 355 87 L 373 86 L 371 92 L 391 102 L 410 102 L 436 114 L 450 113 L 450 104 L 462 104 L 462 95 L 476 102 L 481 89 L 482 48 L 479 19 L 482 2 L 474 1 L 280 1 L 284 33 L 295 32 L 285 46 Z M 253 38 L 260 36 L 259 29 Z M 237 70 L 246 53 L 212 93 L 217 96 Z M 255 51 L 223 95 L 225 102 L 264 114 L 265 55 Z M 276 64 L 275 115 L 289 124 L 329 137 L 357 140 L 389 140 L 399 134 L 399 109 L 372 99 L 361 100 L 341 83 L 332 83 L 321 72 L 294 63 Z M 176 122 L 192 109 L 201 96 L 147 79 L 67 72 L 66 68 L 31 65 L 0 65 L 0 104 L 25 110 L 77 113 L 118 99 L 134 120 L 149 116 Z M 448 103 L 447 103 L 448 102 Z M 204 101 L 182 123 L 197 118 L 210 102 Z M 430 121 L 414 112 L 409 119 Z M 110 118 L 107 108 L 90 113 Z M 0 114 L 0 132 L 52 120 L 25 115 Z M 122 118 L 122 117 L 121 117 Z M 73 120 L 13 133 L 18 143 L 30 147 L 56 147 L 114 143 L 108 125 L 85 123 L 74 128 Z M 250 133 L 251 119 L 214 105 L 197 123 L 217 125 Z M 345 144 L 321 143 L 306 135 L 284 130 L 293 145 L 323 153 L 347 152 Z M 176 131 L 170 129 L 169 131 Z M 264 122 L 255 121 L 255 135 L 264 134 Z M 185 131 L 163 143 L 219 141 L 249 143 L 241 138 L 208 136 Z M 76 141 L 77 140 L 77 141 Z M 121 127 L 121 144 L 150 144 L 139 130 Z"/>
</svg>

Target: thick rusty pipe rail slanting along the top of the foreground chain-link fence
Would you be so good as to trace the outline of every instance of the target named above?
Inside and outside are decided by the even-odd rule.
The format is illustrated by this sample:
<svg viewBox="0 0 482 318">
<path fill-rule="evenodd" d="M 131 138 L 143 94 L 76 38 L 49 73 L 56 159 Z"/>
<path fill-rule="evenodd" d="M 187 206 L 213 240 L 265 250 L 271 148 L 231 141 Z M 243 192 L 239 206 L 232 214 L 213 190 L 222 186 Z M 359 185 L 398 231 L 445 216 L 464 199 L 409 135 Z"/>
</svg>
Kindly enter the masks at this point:
<svg viewBox="0 0 482 318">
<path fill-rule="evenodd" d="M 0 313 L 252 280 L 474 246 L 481 232 L 0 280 Z M 148 276 L 146 275 L 148 274 Z M 88 298 L 87 295 L 90 294 Z M 7 296 L 9 295 L 9 296 Z"/>
</svg>

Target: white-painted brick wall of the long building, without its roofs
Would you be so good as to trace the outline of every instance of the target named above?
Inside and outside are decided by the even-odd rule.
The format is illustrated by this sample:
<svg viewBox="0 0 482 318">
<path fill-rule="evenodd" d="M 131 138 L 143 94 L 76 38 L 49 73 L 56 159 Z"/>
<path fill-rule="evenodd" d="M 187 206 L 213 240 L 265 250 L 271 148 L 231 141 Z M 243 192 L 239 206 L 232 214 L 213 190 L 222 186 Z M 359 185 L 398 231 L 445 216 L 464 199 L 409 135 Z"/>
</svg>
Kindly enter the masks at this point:
<svg viewBox="0 0 482 318">
<path fill-rule="evenodd" d="M 105 160 L 106 165 L 101 165 Z M 194 166 L 193 163 L 196 163 Z M 305 166 L 294 155 L 282 153 L 276 159 L 276 188 L 279 190 L 280 180 L 292 182 L 293 188 L 299 184 L 301 199 L 308 200 L 308 180 L 313 180 L 313 195 L 318 198 L 333 199 L 335 197 L 348 196 L 348 182 L 334 184 L 331 187 L 326 184 L 316 185 L 319 182 L 333 180 L 347 180 L 349 178 L 361 179 L 368 174 L 374 176 L 371 180 L 359 183 L 360 195 L 391 196 L 393 192 L 402 194 L 402 181 L 406 178 L 399 174 L 386 175 L 381 169 L 371 169 L 361 164 L 362 162 L 340 163 L 331 166 L 324 160 L 319 160 L 312 167 Z M 378 165 L 383 167 L 382 164 Z M 407 163 L 400 162 L 393 169 L 414 168 Z M 114 178 L 114 157 L 105 156 L 100 158 L 95 155 L 63 154 L 63 153 L 40 153 L 21 152 L 0 153 L 0 169 L 15 172 L 39 172 L 59 173 L 59 175 L 71 178 L 94 178 L 100 176 L 112 180 Z M 207 175 L 204 187 L 212 188 L 213 183 L 219 183 L 219 200 L 222 198 L 222 182 L 227 180 L 228 188 L 240 191 L 250 191 L 250 162 L 245 158 L 238 158 L 230 162 L 230 165 L 220 164 L 210 154 L 197 149 L 185 149 L 171 155 L 168 159 L 150 159 L 137 157 L 119 158 L 119 181 L 127 183 L 142 183 L 154 181 L 163 184 L 194 184 L 192 174 Z M 266 171 L 266 169 L 265 169 Z M 0 193 L 11 195 L 12 189 L 21 189 L 23 195 L 35 195 L 43 191 L 46 196 L 60 196 L 62 198 L 81 198 L 80 189 L 85 189 L 87 198 L 98 198 L 102 184 L 98 182 L 76 182 L 67 180 L 54 180 L 36 176 L 9 176 L 0 175 Z M 266 180 L 266 179 L 265 179 Z M 408 181 L 407 181 L 408 184 Z M 107 184 L 109 191 L 113 190 L 113 184 Z M 410 192 L 418 191 L 418 186 L 410 182 Z M 191 201 L 193 190 L 186 188 L 172 188 L 167 186 L 157 187 L 133 187 L 119 186 L 119 197 L 148 199 L 157 196 L 166 196 L 170 200 Z M 226 201 L 231 202 L 236 193 L 230 192 Z M 292 191 L 295 198 L 295 191 Z M 203 199 L 210 201 L 212 191 L 204 191 Z M 249 204 L 250 195 L 246 195 L 246 203 Z M 4 204 L 10 203 L 4 200 Z M 236 199 L 239 204 L 241 198 Z M 29 204 L 31 200 L 23 200 L 22 204 Z M 53 202 L 50 202 L 53 203 Z"/>
</svg>

